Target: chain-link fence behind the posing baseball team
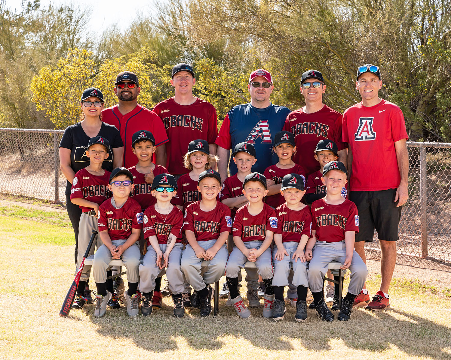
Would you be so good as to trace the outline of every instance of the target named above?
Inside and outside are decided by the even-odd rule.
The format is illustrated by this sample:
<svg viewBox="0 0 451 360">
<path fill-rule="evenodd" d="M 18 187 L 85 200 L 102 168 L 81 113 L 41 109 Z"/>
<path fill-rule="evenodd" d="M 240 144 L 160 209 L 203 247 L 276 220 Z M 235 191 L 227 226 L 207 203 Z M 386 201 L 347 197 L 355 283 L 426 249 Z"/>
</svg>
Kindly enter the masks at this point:
<svg viewBox="0 0 451 360">
<path fill-rule="evenodd" d="M 64 202 L 62 133 L 0 128 L 0 193 Z M 398 252 L 451 262 L 451 144 L 408 142 L 407 147 L 410 196 L 402 210 Z M 379 249 L 376 234 L 366 248 Z"/>
</svg>

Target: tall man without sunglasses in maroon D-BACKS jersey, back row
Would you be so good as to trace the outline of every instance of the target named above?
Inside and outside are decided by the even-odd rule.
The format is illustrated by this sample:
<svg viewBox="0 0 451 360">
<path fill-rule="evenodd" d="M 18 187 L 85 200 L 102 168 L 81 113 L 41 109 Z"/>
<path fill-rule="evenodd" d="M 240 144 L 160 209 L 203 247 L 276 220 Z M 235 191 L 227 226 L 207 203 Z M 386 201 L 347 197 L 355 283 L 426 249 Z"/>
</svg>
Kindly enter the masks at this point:
<svg viewBox="0 0 451 360">
<path fill-rule="evenodd" d="M 207 140 L 211 155 L 216 154 L 215 139 L 218 133 L 216 109 L 208 101 L 193 95 L 196 83 L 193 67 L 179 63 L 172 69 L 170 84 L 174 97 L 157 103 L 153 111 L 166 128 L 169 143 L 166 147 L 166 168 L 178 179 L 189 170 L 183 165 L 183 155 L 193 139 Z"/>
</svg>

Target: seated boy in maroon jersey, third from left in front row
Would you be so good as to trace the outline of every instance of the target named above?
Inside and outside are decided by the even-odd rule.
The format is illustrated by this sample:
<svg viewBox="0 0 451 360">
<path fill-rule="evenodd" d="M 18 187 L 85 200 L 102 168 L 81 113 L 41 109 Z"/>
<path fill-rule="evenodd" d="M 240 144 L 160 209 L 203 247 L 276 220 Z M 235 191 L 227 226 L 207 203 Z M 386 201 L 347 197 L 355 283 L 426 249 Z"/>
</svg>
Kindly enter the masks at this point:
<svg viewBox="0 0 451 360">
<path fill-rule="evenodd" d="M 214 170 L 206 170 L 199 176 L 198 190 L 202 200 L 186 208 L 184 229 L 189 244 L 186 245 L 181 268 L 186 281 L 193 287 L 191 305 L 200 307 L 200 315 L 212 312 L 210 284 L 224 275 L 227 263 L 226 240 L 232 228 L 230 209 L 218 201 L 221 190 L 221 176 Z M 207 271 L 201 276 L 201 263 L 210 261 Z"/>
</svg>

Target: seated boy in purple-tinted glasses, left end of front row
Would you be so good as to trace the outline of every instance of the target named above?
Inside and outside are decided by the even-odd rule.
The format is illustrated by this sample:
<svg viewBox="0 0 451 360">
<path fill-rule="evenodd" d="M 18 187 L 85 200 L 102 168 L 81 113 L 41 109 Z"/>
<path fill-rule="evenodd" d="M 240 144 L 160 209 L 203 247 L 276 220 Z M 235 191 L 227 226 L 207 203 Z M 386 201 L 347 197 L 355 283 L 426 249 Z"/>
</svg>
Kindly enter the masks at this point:
<svg viewBox="0 0 451 360">
<path fill-rule="evenodd" d="M 99 235 L 103 245 L 92 261 L 92 273 L 97 285 L 96 310 L 94 316 L 105 315 L 106 305 L 112 293 L 106 289 L 106 270 L 111 259 L 122 259 L 127 269 L 129 289 L 125 293 L 127 314 L 138 315 L 141 300 L 138 294 L 139 282 L 139 234 L 143 227 L 141 206 L 129 198 L 133 190 L 133 175 L 125 167 L 116 167 L 108 184 L 113 197 L 99 207 Z"/>
</svg>

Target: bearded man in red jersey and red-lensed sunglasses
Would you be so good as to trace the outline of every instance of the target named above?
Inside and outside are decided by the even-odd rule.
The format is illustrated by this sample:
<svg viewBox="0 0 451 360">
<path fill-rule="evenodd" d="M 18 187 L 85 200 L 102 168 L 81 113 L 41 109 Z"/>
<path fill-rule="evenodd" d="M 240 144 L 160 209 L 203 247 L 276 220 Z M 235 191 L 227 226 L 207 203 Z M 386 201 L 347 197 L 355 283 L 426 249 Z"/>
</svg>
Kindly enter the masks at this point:
<svg viewBox="0 0 451 360">
<path fill-rule="evenodd" d="M 168 141 L 165 127 L 156 114 L 138 104 L 141 91 L 138 76 L 124 71 L 116 76 L 114 92 L 119 100 L 115 106 L 102 111 L 102 121 L 117 127 L 124 142 L 124 166 L 128 169 L 136 165 L 132 151 L 132 136 L 138 130 L 148 130 L 155 137 L 154 162 L 166 166 L 166 145 Z"/>
</svg>

